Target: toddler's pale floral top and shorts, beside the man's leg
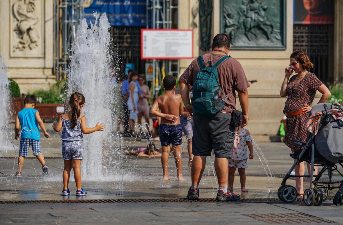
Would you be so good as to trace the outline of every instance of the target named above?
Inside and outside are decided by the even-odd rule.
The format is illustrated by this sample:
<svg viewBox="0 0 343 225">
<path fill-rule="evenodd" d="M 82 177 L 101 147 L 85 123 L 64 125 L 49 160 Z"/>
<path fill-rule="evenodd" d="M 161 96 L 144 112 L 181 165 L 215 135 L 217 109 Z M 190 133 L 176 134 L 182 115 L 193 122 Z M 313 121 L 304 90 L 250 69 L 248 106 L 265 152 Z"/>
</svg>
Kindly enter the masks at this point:
<svg viewBox="0 0 343 225">
<path fill-rule="evenodd" d="M 251 135 L 247 135 L 247 129 L 243 129 L 240 133 L 236 133 L 232 156 L 228 159 L 229 167 L 247 168 L 247 141 L 252 141 Z"/>
</svg>

